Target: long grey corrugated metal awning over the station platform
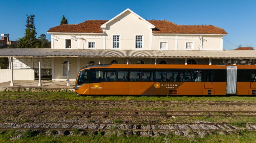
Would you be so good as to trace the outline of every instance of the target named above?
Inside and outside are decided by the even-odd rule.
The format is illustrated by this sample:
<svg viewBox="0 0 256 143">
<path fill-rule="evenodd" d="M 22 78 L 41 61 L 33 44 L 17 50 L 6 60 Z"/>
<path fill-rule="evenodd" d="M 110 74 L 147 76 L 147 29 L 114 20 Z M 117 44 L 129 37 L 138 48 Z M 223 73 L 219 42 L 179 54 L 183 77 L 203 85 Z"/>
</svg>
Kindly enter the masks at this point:
<svg viewBox="0 0 256 143">
<path fill-rule="evenodd" d="M 256 50 L 83 50 L 49 48 L 0 49 L 0 57 L 122 57 L 255 59 Z"/>
</svg>

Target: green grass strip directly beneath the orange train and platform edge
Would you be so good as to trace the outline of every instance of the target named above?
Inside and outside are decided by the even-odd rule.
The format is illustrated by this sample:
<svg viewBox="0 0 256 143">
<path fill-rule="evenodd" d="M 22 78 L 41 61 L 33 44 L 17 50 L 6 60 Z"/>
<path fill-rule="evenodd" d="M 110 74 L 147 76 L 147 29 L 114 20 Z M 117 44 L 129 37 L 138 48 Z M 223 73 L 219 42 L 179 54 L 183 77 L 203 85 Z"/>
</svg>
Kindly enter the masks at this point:
<svg viewBox="0 0 256 143">
<path fill-rule="evenodd" d="M 77 96 L 69 92 L 0 92 L 0 99 L 31 100 L 140 100 L 140 101 L 256 101 L 256 96 Z M 91 105 L 92 107 L 94 105 Z"/>
</svg>

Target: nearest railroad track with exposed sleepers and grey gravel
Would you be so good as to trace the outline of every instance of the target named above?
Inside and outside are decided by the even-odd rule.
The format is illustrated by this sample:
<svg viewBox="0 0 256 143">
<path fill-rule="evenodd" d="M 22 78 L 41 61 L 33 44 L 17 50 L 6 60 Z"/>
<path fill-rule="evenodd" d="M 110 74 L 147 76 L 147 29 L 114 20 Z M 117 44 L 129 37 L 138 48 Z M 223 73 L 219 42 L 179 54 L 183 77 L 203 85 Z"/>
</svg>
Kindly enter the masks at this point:
<svg viewBox="0 0 256 143">
<path fill-rule="evenodd" d="M 198 134 L 214 134 L 223 132 L 224 134 L 238 133 L 241 130 L 256 131 L 256 124 L 246 123 L 245 127 L 235 127 L 228 123 L 74 123 L 74 122 L 1 122 L 0 130 L 37 130 L 37 131 L 62 131 L 61 134 L 69 134 L 69 131 L 91 131 L 97 132 L 124 131 L 126 135 L 149 135 L 177 132 L 184 135 L 187 132 Z"/>
</svg>

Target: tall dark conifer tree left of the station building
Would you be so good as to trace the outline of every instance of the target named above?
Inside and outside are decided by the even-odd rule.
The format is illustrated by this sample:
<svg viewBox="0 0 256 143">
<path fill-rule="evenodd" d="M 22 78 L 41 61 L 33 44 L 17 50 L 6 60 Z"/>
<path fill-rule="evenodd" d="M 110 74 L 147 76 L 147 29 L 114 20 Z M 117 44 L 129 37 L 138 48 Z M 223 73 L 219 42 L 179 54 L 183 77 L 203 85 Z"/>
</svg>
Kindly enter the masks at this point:
<svg viewBox="0 0 256 143">
<path fill-rule="evenodd" d="M 19 43 L 17 45 L 18 48 L 39 48 L 40 42 L 36 38 L 36 28 L 35 28 L 35 15 L 26 15 L 26 30 L 25 36 L 18 39 Z"/>
</svg>

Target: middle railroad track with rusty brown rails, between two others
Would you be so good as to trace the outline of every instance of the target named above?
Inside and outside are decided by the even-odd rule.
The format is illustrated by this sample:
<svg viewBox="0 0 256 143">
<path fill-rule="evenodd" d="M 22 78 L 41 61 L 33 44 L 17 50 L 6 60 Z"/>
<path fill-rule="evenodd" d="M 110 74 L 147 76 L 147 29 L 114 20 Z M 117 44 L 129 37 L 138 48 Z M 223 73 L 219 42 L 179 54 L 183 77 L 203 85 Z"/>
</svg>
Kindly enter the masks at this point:
<svg viewBox="0 0 256 143">
<path fill-rule="evenodd" d="M 151 111 L 151 110 L 55 110 L 55 109 L 0 109 L 0 115 L 42 115 L 42 116 L 211 116 L 211 117 L 256 117 L 256 111 Z"/>
</svg>

